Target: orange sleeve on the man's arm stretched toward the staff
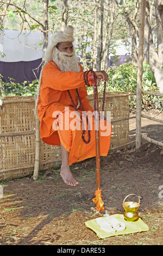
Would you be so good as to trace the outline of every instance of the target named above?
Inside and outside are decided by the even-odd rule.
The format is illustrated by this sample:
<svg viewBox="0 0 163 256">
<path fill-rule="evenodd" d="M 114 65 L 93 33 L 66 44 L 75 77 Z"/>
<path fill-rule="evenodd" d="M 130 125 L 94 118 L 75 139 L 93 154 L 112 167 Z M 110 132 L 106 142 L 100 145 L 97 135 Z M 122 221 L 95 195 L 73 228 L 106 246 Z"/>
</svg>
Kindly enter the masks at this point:
<svg viewBox="0 0 163 256">
<path fill-rule="evenodd" d="M 42 71 L 42 83 L 45 87 L 61 91 L 83 87 L 85 82 L 83 69 L 81 68 L 81 70 L 80 72 L 62 72 L 54 62 L 49 62 Z M 89 83 L 92 86 L 92 79 L 89 80 Z"/>
</svg>

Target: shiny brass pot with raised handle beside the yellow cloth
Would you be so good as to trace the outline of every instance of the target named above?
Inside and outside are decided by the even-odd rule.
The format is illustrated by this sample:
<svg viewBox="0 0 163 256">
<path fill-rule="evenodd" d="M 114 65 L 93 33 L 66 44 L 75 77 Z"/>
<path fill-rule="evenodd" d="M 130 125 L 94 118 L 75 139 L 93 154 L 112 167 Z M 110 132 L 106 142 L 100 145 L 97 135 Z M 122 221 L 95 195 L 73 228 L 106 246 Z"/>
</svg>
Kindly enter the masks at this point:
<svg viewBox="0 0 163 256">
<path fill-rule="evenodd" d="M 137 196 L 136 194 L 129 194 L 127 197 L 132 196 L 132 195 Z M 125 212 L 123 214 L 124 218 L 126 221 L 136 221 L 139 218 L 139 215 L 137 214 L 137 210 L 139 209 L 139 206 L 140 206 L 140 198 L 138 197 L 139 198 L 138 203 L 131 202 L 131 201 L 124 202 L 126 200 L 126 198 L 124 198 L 123 204 L 122 204 L 122 206 L 125 210 Z"/>
</svg>

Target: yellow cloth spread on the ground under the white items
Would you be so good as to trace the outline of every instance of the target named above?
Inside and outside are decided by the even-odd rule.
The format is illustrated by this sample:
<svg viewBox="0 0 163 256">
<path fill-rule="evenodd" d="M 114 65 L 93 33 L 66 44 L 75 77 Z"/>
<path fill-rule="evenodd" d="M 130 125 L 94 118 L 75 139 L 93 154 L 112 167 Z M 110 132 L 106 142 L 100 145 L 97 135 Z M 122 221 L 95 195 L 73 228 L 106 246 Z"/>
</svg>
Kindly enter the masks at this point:
<svg viewBox="0 0 163 256">
<path fill-rule="evenodd" d="M 131 221 L 124 220 L 123 214 L 114 214 L 110 216 L 116 218 L 116 220 L 118 221 L 125 223 L 126 229 L 122 231 L 116 230 L 115 233 L 107 233 L 99 227 L 99 225 L 96 222 L 96 219 L 93 219 L 91 221 L 86 221 L 85 225 L 87 228 L 92 229 L 97 234 L 99 239 L 104 239 L 110 236 L 124 235 L 124 234 L 137 233 L 137 232 L 149 230 L 148 225 L 145 222 L 143 222 L 140 217 L 137 221 L 131 222 Z M 100 217 L 100 218 L 104 218 L 104 217 Z"/>
</svg>

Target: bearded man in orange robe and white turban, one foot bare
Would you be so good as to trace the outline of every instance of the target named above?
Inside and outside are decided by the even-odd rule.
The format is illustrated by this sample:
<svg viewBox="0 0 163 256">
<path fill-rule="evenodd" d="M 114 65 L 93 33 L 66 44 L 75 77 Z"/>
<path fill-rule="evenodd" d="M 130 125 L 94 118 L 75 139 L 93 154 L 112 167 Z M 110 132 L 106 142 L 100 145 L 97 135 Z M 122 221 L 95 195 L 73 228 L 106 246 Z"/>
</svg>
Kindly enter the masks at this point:
<svg viewBox="0 0 163 256">
<path fill-rule="evenodd" d="M 78 181 L 74 179 L 70 165 L 96 156 L 96 145 L 95 120 L 89 119 L 91 125 L 89 129 L 86 119 L 83 121 L 80 118 L 83 116 L 82 108 L 85 112 L 89 111 L 90 116 L 93 116 L 94 109 L 86 97 L 84 72 L 74 54 L 73 40 L 73 27 L 67 26 L 64 32 L 54 36 L 52 45 L 47 49 L 45 57 L 47 63 L 42 69 L 37 95 L 37 114 L 42 141 L 61 147 L 62 179 L 67 185 L 76 186 Z M 96 71 L 95 74 L 97 78 L 108 81 L 105 71 Z M 95 84 L 91 72 L 88 74 L 88 82 L 90 86 Z M 103 122 L 105 124 L 105 120 Z M 82 136 L 83 125 L 86 128 L 84 134 L 86 143 Z M 91 130 L 90 136 L 88 129 Z M 107 136 L 100 137 L 101 156 L 108 155 L 110 137 L 111 125 Z"/>
</svg>

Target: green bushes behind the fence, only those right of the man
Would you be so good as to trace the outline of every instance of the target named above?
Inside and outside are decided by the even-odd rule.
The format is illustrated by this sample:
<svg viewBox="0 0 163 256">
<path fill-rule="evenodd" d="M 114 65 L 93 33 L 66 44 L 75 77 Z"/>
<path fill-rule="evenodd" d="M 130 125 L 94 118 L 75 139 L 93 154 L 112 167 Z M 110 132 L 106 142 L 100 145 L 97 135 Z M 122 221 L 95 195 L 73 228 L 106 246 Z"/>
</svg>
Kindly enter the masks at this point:
<svg viewBox="0 0 163 256">
<path fill-rule="evenodd" d="M 150 92 L 159 92 L 149 64 L 143 65 L 142 89 Z M 127 92 L 136 93 L 137 87 L 137 66 L 122 64 L 113 66 L 106 71 L 109 75 L 109 81 L 106 83 L 106 92 Z M 104 84 L 99 86 L 99 93 L 103 92 Z M 92 88 L 87 88 L 89 94 L 93 93 Z M 161 98 L 154 95 L 143 94 L 142 109 L 159 109 L 162 111 Z M 136 95 L 129 96 L 130 108 L 136 108 Z"/>
</svg>

